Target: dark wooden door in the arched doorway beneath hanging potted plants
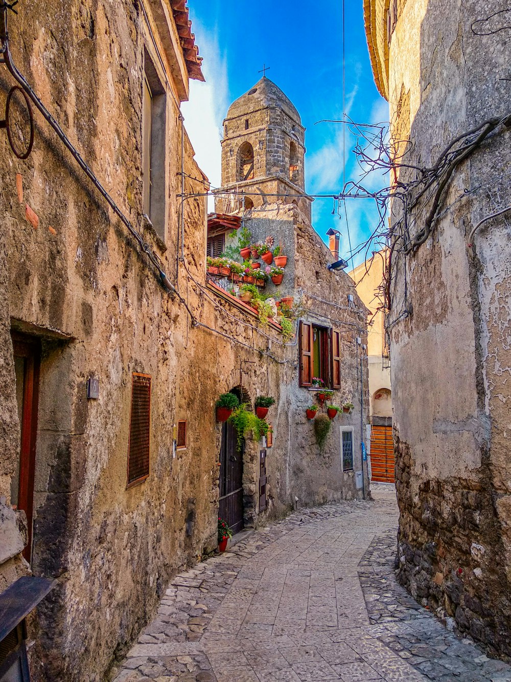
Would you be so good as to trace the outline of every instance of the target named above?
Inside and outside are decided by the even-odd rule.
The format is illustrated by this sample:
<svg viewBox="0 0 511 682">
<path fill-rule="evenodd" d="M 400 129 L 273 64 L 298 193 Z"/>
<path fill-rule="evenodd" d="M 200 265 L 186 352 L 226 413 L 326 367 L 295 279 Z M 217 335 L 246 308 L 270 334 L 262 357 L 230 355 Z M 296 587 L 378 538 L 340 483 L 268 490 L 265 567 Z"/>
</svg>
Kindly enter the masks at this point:
<svg viewBox="0 0 511 682">
<path fill-rule="evenodd" d="M 220 505 L 218 516 L 233 533 L 243 528 L 243 451 L 238 450 L 236 429 L 228 421 L 222 425 L 220 450 Z"/>
</svg>

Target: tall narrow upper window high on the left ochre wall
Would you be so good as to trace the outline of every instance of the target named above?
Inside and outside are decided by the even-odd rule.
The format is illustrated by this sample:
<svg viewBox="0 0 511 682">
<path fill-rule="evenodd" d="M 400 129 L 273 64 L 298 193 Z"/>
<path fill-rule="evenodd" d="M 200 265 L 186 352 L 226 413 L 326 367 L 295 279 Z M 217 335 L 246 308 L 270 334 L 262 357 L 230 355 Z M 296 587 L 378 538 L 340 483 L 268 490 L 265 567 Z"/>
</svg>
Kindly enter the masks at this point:
<svg viewBox="0 0 511 682">
<path fill-rule="evenodd" d="M 165 239 L 166 224 L 166 94 L 149 57 L 144 53 L 142 91 L 142 182 L 144 213 Z"/>
</svg>

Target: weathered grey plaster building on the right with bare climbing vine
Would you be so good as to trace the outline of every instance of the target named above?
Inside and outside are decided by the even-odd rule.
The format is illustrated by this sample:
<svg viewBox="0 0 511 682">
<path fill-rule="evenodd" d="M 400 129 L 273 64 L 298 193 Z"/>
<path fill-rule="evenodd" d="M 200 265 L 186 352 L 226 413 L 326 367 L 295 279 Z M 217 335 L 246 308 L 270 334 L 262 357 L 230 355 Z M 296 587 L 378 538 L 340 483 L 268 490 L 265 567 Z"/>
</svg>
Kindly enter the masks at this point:
<svg viewBox="0 0 511 682">
<path fill-rule="evenodd" d="M 399 576 L 511 655 L 510 28 L 503 3 L 365 0 L 390 102 Z M 403 206 L 406 211 L 403 213 Z"/>
</svg>

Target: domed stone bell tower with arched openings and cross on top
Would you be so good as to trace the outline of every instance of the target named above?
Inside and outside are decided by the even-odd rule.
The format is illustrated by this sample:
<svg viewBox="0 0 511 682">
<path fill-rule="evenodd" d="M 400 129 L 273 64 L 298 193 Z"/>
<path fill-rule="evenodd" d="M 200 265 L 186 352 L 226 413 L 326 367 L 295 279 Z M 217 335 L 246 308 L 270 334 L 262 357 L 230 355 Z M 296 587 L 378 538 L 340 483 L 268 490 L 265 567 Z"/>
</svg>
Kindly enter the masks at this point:
<svg viewBox="0 0 511 682">
<path fill-rule="evenodd" d="M 298 203 L 310 218 L 305 195 L 305 128 L 300 115 L 275 83 L 263 76 L 229 107 L 223 121 L 222 187 L 217 213 L 281 201 Z"/>
</svg>

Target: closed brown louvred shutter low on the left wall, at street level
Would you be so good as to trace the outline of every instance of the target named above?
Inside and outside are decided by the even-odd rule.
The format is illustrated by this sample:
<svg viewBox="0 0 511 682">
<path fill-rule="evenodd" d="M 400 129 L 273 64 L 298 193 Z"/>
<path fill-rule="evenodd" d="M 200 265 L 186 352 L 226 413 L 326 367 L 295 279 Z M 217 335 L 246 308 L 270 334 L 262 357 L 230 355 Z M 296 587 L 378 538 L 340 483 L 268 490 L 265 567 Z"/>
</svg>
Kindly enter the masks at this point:
<svg viewBox="0 0 511 682">
<path fill-rule="evenodd" d="M 149 431 L 151 427 L 151 376 L 133 374 L 127 485 L 149 476 Z"/>
</svg>

